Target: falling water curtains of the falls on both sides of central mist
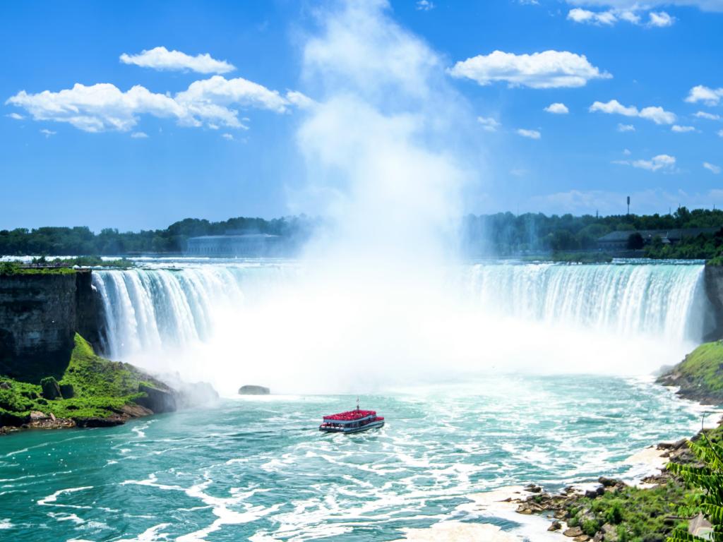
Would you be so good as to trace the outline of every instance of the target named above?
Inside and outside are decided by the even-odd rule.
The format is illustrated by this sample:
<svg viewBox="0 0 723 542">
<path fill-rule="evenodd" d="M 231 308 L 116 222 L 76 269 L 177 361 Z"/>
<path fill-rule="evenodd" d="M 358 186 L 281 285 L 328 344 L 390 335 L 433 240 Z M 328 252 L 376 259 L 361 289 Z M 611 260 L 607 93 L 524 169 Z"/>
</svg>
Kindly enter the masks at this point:
<svg viewBox="0 0 723 542">
<path fill-rule="evenodd" d="M 703 337 L 701 264 L 495 263 L 466 265 L 453 275 L 450 296 L 461 294 L 488 315 L 678 342 Z M 104 353 L 124 359 L 209 340 L 219 319 L 233 319 L 294 276 L 288 267 L 264 263 L 93 272 L 106 315 Z"/>
</svg>

